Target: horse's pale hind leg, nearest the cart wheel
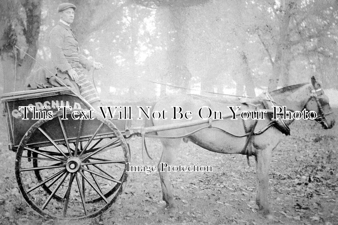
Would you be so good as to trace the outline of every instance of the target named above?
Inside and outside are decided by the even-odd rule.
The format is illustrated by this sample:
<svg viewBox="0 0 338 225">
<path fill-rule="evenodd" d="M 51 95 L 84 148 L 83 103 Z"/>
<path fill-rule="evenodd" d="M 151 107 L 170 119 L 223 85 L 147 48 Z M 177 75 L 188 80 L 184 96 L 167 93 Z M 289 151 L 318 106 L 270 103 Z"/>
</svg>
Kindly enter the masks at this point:
<svg viewBox="0 0 338 225">
<path fill-rule="evenodd" d="M 175 207 L 174 197 L 171 192 L 170 182 L 169 182 L 169 173 L 168 166 L 172 165 L 174 160 L 174 152 L 177 150 L 179 145 L 179 140 L 163 140 L 163 151 L 160 162 L 158 164 L 158 170 L 160 173 L 160 180 L 162 186 L 162 196 L 163 200 L 166 201 L 166 207 Z M 162 171 L 163 168 L 163 171 Z"/>
</svg>

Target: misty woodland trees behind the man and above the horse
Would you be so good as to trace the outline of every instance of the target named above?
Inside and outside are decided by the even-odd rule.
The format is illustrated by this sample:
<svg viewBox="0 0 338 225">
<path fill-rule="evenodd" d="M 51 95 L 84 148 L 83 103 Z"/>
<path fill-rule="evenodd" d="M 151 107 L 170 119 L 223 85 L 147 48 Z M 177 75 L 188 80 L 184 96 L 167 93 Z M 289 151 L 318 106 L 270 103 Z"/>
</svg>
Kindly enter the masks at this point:
<svg viewBox="0 0 338 225">
<path fill-rule="evenodd" d="M 61 2 L 0 1 L 3 92 L 22 90 L 40 66 L 15 45 L 52 67 L 48 36 Z M 312 75 L 325 89 L 338 88 L 337 0 L 69 2 L 77 6 L 72 27 L 82 51 L 105 65 L 94 75 L 104 99 L 179 91 L 128 76 L 251 96 Z"/>
</svg>

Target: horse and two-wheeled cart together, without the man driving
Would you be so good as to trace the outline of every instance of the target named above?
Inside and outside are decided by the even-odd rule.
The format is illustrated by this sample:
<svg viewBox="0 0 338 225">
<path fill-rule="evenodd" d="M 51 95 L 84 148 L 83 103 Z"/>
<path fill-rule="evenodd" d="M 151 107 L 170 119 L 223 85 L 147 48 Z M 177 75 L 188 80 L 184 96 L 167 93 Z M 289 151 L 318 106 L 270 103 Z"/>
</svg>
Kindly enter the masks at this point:
<svg viewBox="0 0 338 225">
<path fill-rule="evenodd" d="M 273 91 L 271 96 L 292 109 L 315 110 L 315 120 L 325 129 L 332 128 L 334 119 L 327 121 L 325 118 L 331 114 L 329 100 L 314 77 L 311 81 L 311 84 L 292 85 Z M 122 192 L 127 180 L 130 150 L 125 139 L 132 135 L 144 137 L 148 132 L 157 132 L 156 137 L 162 138 L 164 150 L 160 163 L 168 165 L 172 163 L 178 146 L 179 140 L 175 139 L 183 137 L 211 151 L 254 155 L 259 180 L 257 203 L 263 214 L 269 214 L 269 157 L 279 142 L 276 137 L 284 132 L 288 134 L 289 130 L 284 122 L 274 122 L 268 115 L 264 116 L 266 121 L 260 120 L 258 123 L 255 119 L 246 122 L 244 119 L 223 120 L 232 117 L 231 114 L 223 116 L 215 124 L 212 119 L 176 120 L 174 123 L 156 120 L 155 126 L 148 128 L 127 128 L 128 120 L 105 119 L 95 111 L 93 118 L 85 116 L 83 110 L 92 109 L 92 106 L 67 87 L 13 92 L 0 97 L 7 121 L 9 149 L 16 151 L 15 174 L 19 190 L 29 206 L 42 216 L 77 219 L 95 217 L 104 212 Z M 267 105 L 274 105 L 271 99 L 267 99 Z M 224 102 L 216 104 L 196 96 L 185 99 L 173 97 L 169 102 L 187 109 L 211 104 L 226 110 L 228 106 Z M 162 110 L 169 102 L 160 101 L 154 109 Z M 262 104 L 262 101 L 258 103 Z M 26 108 L 25 112 L 20 106 L 32 108 Z M 73 110 L 59 110 L 61 106 L 70 106 Z M 252 103 L 243 103 L 242 106 L 255 109 Z M 268 110 L 265 107 L 265 111 Z M 48 118 L 48 111 L 52 111 L 53 118 Z M 70 116 L 76 111 L 81 118 Z M 30 119 L 25 119 L 25 116 Z M 34 116 L 43 118 L 32 119 Z M 288 121 L 288 124 L 291 122 Z M 256 125 L 258 131 L 255 130 Z M 271 126 L 274 128 L 269 129 Z M 241 135 L 235 135 L 240 132 Z M 251 139 L 255 149 L 248 151 Z M 165 171 L 159 172 L 163 200 L 170 206 L 174 200 L 168 175 Z"/>
</svg>

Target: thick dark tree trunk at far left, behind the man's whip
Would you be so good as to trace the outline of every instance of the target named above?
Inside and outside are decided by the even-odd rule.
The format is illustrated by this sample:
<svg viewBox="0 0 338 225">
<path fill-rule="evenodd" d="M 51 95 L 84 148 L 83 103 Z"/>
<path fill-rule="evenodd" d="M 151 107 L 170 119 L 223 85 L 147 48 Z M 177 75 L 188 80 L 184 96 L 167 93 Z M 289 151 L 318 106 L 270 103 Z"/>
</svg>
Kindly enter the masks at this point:
<svg viewBox="0 0 338 225">
<path fill-rule="evenodd" d="M 23 90 L 26 77 L 29 76 L 31 69 L 35 63 L 35 58 L 38 51 L 38 39 L 40 34 L 41 24 L 41 1 L 26 0 L 21 2 L 26 13 L 26 23 L 23 18 L 17 15 L 17 18 L 7 18 L 7 27 L 1 37 L 0 61 L 4 76 L 4 92 L 12 92 Z M 9 7 L 10 8 L 10 7 Z M 12 8 L 13 12 L 18 10 Z M 14 26 L 17 26 L 15 29 Z M 15 46 L 18 43 L 18 27 L 22 29 L 23 38 L 26 40 L 27 52 L 18 50 Z M 19 48 L 24 48 L 19 46 Z M 33 57 L 33 58 L 32 58 Z"/>
</svg>

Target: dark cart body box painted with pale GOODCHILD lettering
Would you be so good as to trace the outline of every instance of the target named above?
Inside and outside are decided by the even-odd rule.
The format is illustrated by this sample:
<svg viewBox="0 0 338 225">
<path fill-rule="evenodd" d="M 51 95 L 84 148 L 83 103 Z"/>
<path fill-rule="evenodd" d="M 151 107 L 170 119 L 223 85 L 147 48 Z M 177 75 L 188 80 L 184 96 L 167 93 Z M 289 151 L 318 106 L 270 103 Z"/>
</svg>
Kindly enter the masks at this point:
<svg viewBox="0 0 338 225">
<path fill-rule="evenodd" d="M 13 151 L 17 149 L 22 137 L 26 134 L 27 130 L 39 120 L 32 119 L 33 112 L 30 110 L 27 110 L 27 117 L 29 119 L 22 119 L 24 115 L 24 109 L 21 108 L 21 110 L 19 110 L 20 106 L 35 106 L 36 111 L 41 113 L 47 113 L 47 111 L 56 112 L 61 106 L 70 106 L 72 109 L 76 110 L 89 110 L 87 104 L 82 102 L 66 87 L 12 92 L 3 94 L 0 96 L 0 98 L 4 106 L 4 115 L 6 116 L 8 128 L 8 147 L 9 150 Z M 35 113 L 36 117 L 38 117 L 39 112 Z M 111 121 L 116 125 L 121 133 L 126 130 L 125 120 L 113 119 Z M 80 120 L 64 119 L 62 122 L 64 123 L 68 141 L 70 143 L 76 142 L 79 127 L 78 124 L 80 123 Z M 86 123 L 83 126 L 80 141 L 90 139 L 92 134 L 95 132 L 95 129 L 100 125 L 95 123 L 98 123 L 98 120 L 95 120 L 92 123 Z M 65 143 L 63 132 L 61 129 L 59 129 L 59 121 L 53 121 L 53 123 L 49 123 L 48 126 L 49 132 L 47 134 L 57 144 Z M 114 135 L 111 134 L 110 130 L 101 129 L 95 138 L 98 139 L 113 136 Z M 50 145 L 50 142 L 43 134 L 37 132 L 37 134 L 31 138 L 27 145 L 30 147 L 41 147 Z"/>
</svg>

